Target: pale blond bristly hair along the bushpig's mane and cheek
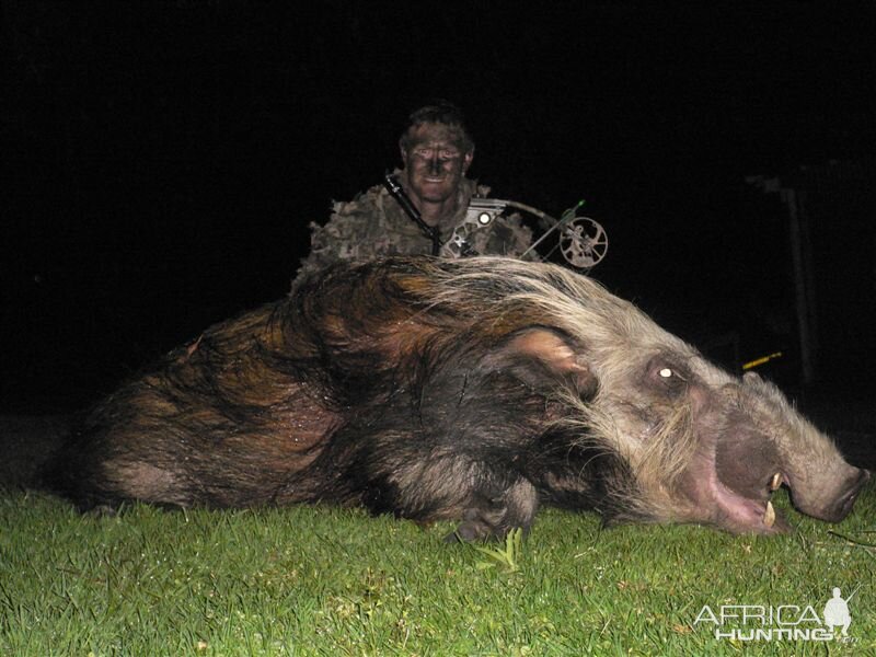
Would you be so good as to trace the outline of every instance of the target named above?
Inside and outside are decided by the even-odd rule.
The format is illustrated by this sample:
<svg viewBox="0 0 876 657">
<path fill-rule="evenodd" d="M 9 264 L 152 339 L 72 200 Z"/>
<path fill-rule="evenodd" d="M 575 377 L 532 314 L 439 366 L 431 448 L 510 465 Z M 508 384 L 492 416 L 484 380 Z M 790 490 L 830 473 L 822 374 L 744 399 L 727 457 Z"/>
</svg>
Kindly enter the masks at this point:
<svg viewBox="0 0 876 657">
<path fill-rule="evenodd" d="M 699 357 L 693 347 L 661 330 L 632 303 L 592 278 L 562 267 L 485 257 L 451 265 L 435 261 L 423 273 L 428 285 L 411 287 L 426 310 L 447 310 L 487 334 L 528 325 L 560 328 L 584 346 L 595 374 L 607 383 L 634 377 L 631 370 L 638 359 L 631 357 L 633 353 L 671 348 L 687 358 Z M 712 373 L 728 380 L 717 369 Z M 551 430 L 575 436 L 575 442 L 588 453 L 620 456 L 629 466 L 626 476 L 604 482 L 606 498 L 598 510 L 607 519 L 666 521 L 683 516 L 673 483 L 696 449 L 690 404 L 671 408 L 643 442 L 642 436 L 619 426 L 616 418 L 623 414 L 614 411 L 618 403 L 626 402 L 612 400 L 610 388 L 603 384 L 590 400 L 569 388 L 554 391 L 555 399 L 573 411 Z"/>
</svg>

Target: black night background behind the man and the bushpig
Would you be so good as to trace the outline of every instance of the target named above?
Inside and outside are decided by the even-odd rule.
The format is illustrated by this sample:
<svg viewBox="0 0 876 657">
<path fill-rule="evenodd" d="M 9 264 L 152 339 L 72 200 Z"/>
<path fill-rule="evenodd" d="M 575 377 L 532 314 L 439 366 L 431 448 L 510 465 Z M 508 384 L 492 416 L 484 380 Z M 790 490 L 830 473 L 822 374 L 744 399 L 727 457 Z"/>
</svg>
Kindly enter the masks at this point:
<svg viewBox="0 0 876 657">
<path fill-rule="evenodd" d="M 435 96 L 494 196 L 587 199 L 609 289 L 728 367 L 781 350 L 764 372 L 795 396 L 869 406 L 876 11 L 527 4 L 0 2 L 0 411 L 85 404 L 286 293 L 308 223 Z M 806 385 L 788 207 L 756 175 L 806 195 Z"/>
</svg>

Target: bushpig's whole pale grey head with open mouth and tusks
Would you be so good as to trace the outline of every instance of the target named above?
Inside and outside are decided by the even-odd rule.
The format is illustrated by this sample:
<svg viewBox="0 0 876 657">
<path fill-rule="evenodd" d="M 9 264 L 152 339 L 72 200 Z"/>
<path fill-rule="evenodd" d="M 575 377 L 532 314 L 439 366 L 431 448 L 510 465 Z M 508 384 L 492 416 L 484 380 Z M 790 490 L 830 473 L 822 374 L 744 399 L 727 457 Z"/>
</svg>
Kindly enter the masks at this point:
<svg viewBox="0 0 876 657">
<path fill-rule="evenodd" d="M 614 473 L 604 483 L 604 519 L 777 533 L 789 529 L 771 503 L 783 485 L 803 514 L 831 522 L 849 515 L 869 472 L 846 463 L 779 388 L 715 367 L 592 280 L 575 283 L 587 312 L 549 312 L 565 320 L 555 325 L 568 361 L 558 348 L 540 358 L 589 374 L 598 393 L 566 397 L 575 413 L 558 424 L 579 425 L 584 442 L 630 468 L 629 480 Z"/>
</svg>

